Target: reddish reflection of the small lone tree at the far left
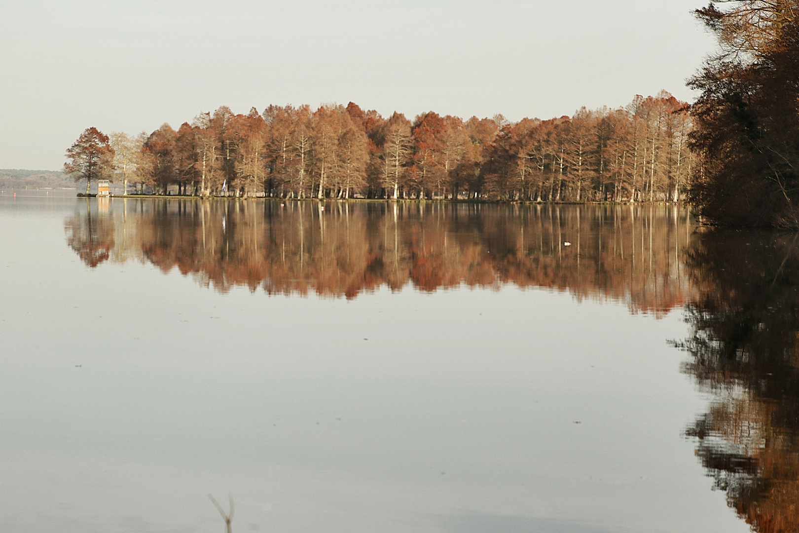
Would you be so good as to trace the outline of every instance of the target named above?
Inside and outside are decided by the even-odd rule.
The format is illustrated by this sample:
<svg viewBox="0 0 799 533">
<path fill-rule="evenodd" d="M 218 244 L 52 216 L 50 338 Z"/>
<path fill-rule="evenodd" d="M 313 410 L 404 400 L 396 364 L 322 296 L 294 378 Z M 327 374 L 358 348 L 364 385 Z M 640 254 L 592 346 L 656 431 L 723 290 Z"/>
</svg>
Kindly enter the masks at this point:
<svg viewBox="0 0 799 533">
<path fill-rule="evenodd" d="M 108 204 L 103 200 L 100 199 L 93 208 L 87 198 L 85 211 L 79 209 L 64 222 L 67 244 L 78 253 L 81 261 L 92 268 L 108 261 L 114 246 L 113 219 Z"/>
</svg>

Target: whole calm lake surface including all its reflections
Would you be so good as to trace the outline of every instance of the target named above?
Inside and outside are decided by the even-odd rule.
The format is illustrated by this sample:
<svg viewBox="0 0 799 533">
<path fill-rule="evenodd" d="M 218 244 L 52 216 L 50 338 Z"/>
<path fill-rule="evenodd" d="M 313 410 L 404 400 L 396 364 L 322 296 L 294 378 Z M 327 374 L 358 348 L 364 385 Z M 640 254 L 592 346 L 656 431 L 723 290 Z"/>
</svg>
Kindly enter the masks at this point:
<svg viewBox="0 0 799 533">
<path fill-rule="evenodd" d="M 224 531 L 209 493 L 237 532 L 799 519 L 793 236 L 26 194 L 0 196 L 2 531 Z"/>
</svg>

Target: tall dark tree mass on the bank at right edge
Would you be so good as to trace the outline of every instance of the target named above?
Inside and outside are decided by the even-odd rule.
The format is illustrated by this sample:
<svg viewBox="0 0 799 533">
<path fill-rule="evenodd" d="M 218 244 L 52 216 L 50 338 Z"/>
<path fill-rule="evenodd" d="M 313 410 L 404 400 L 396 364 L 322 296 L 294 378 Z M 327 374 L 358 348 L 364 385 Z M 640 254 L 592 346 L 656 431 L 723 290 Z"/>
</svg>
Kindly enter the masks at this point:
<svg viewBox="0 0 799 533">
<path fill-rule="evenodd" d="M 691 199 L 721 225 L 799 228 L 799 1 L 712 2 L 718 39 L 690 86 L 691 148 L 703 169 Z"/>
</svg>

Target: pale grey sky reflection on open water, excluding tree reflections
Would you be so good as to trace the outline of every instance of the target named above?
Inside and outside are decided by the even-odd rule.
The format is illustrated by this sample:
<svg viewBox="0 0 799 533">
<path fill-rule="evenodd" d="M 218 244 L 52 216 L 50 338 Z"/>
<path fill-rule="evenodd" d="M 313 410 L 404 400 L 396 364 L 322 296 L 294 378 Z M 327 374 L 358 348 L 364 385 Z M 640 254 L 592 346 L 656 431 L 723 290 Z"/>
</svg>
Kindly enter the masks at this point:
<svg viewBox="0 0 799 533">
<path fill-rule="evenodd" d="M 26 201 L 0 200 L 10 531 L 217 531 L 206 494 L 228 491 L 234 531 L 746 531 L 681 436 L 706 400 L 665 342 L 680 312 L 513 284 L 200 290 L 87 268 L 76 201 Z"/>
</svg>

